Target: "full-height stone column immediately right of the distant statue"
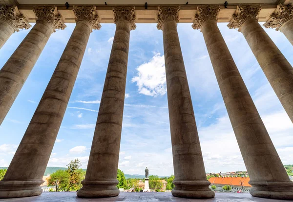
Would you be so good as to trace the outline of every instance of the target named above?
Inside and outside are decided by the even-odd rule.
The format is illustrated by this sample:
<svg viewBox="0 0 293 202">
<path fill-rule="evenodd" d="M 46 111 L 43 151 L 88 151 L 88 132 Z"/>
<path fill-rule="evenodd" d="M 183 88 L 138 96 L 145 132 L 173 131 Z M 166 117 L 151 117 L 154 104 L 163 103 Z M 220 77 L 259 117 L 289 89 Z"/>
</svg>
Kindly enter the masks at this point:
<svg viewBox="0 0 293 202">
<path fill-rule="evenodd" d="M 177 23 L 180 7 L 158 7 L 157 28 L 163 31 L 167 97 L 173 153 L 173 196 L 213 198 L 196 129 Z"/>
</svg>

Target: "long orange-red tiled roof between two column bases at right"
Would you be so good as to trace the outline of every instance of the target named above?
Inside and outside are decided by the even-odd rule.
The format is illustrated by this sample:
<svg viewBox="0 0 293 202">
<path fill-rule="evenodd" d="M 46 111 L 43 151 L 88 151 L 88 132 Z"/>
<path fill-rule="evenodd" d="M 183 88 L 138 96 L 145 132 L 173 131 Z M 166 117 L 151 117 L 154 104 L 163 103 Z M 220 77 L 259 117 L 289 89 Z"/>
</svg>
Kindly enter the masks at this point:
<svg viewBox="0 0 293 202">
<path fill-rule="evenodd" d="M 228 178 L 221 178 L 221 177 L 212 177 L 209 178 L 210 184 L 227 184 L 227 185 L 234 185 L 234 186 L 241 186 L 241 182 L 243 186 L 251 186 L 248 184 L 250 181 L 249 177 L 228 177 Z"/>
</svg>

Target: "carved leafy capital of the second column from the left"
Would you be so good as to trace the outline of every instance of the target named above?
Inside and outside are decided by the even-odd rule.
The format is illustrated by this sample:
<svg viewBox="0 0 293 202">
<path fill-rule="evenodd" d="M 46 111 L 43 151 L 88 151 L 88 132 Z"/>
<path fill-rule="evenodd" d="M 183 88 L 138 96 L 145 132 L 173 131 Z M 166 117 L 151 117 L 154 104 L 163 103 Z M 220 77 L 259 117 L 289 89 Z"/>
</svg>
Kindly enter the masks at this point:
<svg viewBox="0 0 293 202">
<path fill-rule="evenodd" d="M 35 6 L 33 11 L 38 19 L 42 19 L 52 25 L 54 32 L 56 32 L 55 29 L 65 29 L 66 25 L 62 20 L 62 16 L 58 14 L 57 6 Z"/>
</svg>

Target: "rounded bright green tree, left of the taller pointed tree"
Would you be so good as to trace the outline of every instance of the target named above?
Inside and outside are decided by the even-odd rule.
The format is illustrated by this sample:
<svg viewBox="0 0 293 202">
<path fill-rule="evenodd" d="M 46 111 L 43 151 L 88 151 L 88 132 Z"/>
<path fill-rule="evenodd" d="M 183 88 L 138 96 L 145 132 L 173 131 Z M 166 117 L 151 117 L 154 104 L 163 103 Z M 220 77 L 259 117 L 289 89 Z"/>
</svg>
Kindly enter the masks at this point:
<svg viewBox="0 0 293 202">
<path fill-rule="evenodd" d="M 66 191 L 69 186 L 70 175 L 65 170 L 57 170 L 48 179 L 48 185 L 55 186 L 55 191 Z"/>
</svg>

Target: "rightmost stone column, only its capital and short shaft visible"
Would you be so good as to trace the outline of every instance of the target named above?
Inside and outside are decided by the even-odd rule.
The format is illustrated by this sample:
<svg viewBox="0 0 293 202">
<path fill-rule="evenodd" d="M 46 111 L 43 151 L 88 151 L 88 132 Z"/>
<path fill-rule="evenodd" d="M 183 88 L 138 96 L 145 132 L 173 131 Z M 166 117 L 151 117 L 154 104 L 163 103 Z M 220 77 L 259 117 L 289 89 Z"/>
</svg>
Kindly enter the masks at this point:
<svg viewBox="0 0 293 202">
<path fill-rule="evenodd" d="M 293 4 L 288 6 L 279 4 L 264 26 L 275 28 L 276 31 L 280 30 L 293 45 Z"/>
</svg>

